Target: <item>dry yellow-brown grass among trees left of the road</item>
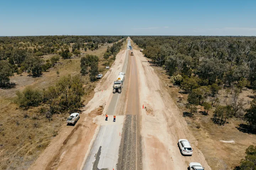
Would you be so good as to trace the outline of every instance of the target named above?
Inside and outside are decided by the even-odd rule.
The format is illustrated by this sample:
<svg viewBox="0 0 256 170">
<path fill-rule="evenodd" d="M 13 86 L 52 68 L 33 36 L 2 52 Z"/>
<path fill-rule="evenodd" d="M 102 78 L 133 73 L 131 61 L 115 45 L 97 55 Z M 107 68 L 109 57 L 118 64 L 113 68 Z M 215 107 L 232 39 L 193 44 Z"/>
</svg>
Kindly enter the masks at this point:
<svg viewBox="0 0 256 170">
<path fill-rule="evenodd" d="M 108 44 L 112 45 L 112 44 Z M 104 75 L 107 70 L 102 66 L 106 60 L 103 54 L 108 45 L 101 46 L 95 51 L 82 51 L 83 55 L 93 54 L 100 58 L 99 70 Z M 43 56 L 47 60 L 52 55 Z M 58 134 L 59 129 L 68 117 L 69 113 L 53 115 L 48 120 L 45 115 L 39 112 L 40 107 L 28 109 L 27 111 L 18 108 L 13 102 L 17 90 L 26 86 L 34 89 L 47 89 L 54 85 L 63 75 L 80 74 L 80 58 L 60 59 L 59 63 L 43 72 L 41 77 L 32 78 L 27 73 L 22 76 L 14 75 L 10 82 L 16 83 L 12 89 L 0 89 L 0 169 L 28 169 L 31 163 L 46 148 L 50 141 Z M 111 57 L 110 57 L 111 58 Z M 109 59 L 110 66 L 113 60 Z M 59 77 L 57 76 L 59 70 Z M 91 83 L 89 76 L 81 76 L 86 95 L 82 98 L 84 104 L 88 103 L 94 95 L 96 82 Z"/>
</svg>

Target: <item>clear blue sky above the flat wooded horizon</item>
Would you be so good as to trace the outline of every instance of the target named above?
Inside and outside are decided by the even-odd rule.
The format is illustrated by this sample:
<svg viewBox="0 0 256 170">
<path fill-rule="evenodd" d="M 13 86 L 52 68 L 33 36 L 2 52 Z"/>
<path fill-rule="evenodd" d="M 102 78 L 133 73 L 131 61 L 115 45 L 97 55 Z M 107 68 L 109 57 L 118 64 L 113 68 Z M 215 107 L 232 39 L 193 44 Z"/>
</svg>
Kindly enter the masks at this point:
<svg viewBox="0 0 256 170">
<path fill-rule="evenodd" d="M 0 36 L 256 35 L 255 0 L 1 0 Z"/>
</svg>

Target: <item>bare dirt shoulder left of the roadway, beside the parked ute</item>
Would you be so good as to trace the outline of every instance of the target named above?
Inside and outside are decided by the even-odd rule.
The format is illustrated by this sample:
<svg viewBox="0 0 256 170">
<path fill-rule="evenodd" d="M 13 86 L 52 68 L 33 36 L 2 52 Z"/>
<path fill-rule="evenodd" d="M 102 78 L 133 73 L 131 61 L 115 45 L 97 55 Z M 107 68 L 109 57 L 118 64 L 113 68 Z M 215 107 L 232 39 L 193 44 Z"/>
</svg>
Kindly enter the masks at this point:
<svg viewBox="0 0 256 170">
<path fill-rule="evenodd" d="M 108 99 L 112 95 L 112 83 L 124 62 L 125 51 L 118 53 L 116 61 L 95 88 L 95 95 L 85 106 L 81 118 L 75 126 L 65 126 L 54 138 L 39 158 L 31 165 L 30 170 L 38 169 L 80 169 L 97 126 L 93 118 L 106 113 Z M 99 108 L 102 106 L 104 109 Z"/>
</svg>

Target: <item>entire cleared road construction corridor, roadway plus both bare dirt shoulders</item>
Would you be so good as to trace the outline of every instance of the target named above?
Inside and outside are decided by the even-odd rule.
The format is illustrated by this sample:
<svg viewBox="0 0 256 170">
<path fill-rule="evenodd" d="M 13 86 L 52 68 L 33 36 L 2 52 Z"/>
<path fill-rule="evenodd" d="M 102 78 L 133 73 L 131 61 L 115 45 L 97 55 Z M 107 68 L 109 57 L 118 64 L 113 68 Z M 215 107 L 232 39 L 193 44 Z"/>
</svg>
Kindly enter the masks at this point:
<svg viewBox="0 0 256 170">
<path fill-rule="evenodd" d="M 130 41 L 96 86 L 78 123 L 63 128 L 31 170 L 186 170 L 190 162 L 211 169 L 161 80 Z M 119 72 L 126 73 L 123 89 L 113 93 Z M 192 156 L 181 155 L 181 138 L 191 142 Z"/>
</svg>

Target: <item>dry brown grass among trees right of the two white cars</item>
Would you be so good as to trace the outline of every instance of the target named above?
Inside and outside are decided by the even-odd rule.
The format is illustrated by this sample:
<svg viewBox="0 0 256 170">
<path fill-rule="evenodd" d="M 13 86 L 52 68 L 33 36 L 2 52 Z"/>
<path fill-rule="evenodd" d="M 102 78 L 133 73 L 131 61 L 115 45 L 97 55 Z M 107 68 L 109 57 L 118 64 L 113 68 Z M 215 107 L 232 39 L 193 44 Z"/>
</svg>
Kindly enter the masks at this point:
<svg viewBox="0 0 256 170">
<path fill-rule="evenodd" d="M 176 102 L 176 105 L 180 109 L 180 114 L 183 115 L 183 112 L 187 112 L 185 108 L 187 94 L 180 94 L 178 93 L 180 91 L 178 87 L 172 87 L 165 70 L 160 67 L 154 67 L 154 70 L 164 82 L 172 99 L 179 101 Z M 251 101 L 253 96 L 251 92 L 251 90 L 243 90 L 239 97 Z M 182 101 L 178 98 L 181 96 Z M 225 96 L 225 89 L 219 91 L 221 103 L 230 101 L 231 95 L 229 94 L 228 98 Z M 249 105 L 246 107 L 249 107 Z M 212 118 L 212 110 L 209 111 L 208 115 L 203 115 L 198 111 L 194 113 L 192 118 L 185 117 L 189 129 L 198 141 L 198 148 L 201 149 L 209 166 L 213 170 L 233 170 L 235 166 L 239 165 L 240 160 L 245 157 L 245 149 L 249 145 L 256 145 L 256 135 L 244 132 L 246 129 L 243 129 L 241 125 L 246 123 L 240 118 L 231 118 L 228 120 L 228 124 L 224 126 L 214 124 Z M 235 143 L 224 143 L 220 140 L 234 140 Z"/>
</svg>

